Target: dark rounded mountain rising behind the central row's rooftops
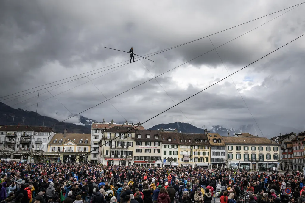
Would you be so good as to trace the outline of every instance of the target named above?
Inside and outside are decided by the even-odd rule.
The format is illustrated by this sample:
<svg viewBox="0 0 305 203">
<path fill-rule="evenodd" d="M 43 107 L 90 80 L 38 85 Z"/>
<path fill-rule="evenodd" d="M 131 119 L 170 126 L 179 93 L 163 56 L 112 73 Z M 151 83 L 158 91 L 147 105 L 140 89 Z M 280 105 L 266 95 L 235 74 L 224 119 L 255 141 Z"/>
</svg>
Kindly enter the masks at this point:
<svg viewBox="0 0 305 203">
<path fill-rule="evenodd" d="M 164 131 L 174 131 L 175 129 L 178 130 L 178 132 L 182 133 L 204 133 L 204 130 L 202 128 L 197 128 L 196 126 L 193 126 L 188 123 L 168 123 L 168 124 L 158 124 L 155 126 L 152 126 L 148 130 L 159 130 L 160 128 L 163 128 Z"/>
</svg>

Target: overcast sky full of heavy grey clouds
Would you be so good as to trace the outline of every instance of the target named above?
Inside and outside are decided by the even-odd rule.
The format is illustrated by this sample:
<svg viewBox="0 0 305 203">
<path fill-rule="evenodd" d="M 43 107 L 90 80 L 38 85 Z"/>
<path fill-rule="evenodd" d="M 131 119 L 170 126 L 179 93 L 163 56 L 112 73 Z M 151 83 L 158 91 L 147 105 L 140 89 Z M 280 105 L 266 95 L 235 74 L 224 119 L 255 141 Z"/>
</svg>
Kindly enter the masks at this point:
<svg viewBox="0 0 305 203">
<path fill-rule="evenodd" d="M 134 47 L 135 54 L 146 55 L 301 2 L 1 1 L 0 96 L 129 60 L 129 54 L 104 47 L 124 51 Z M 47 90 L 52 95 L 61 93 L 56 98 L 77 114 L 106 100 L 102 94 L 111 98 L 213 50 L 211 41 L 218 47 L 279 16 L 217 48 L 228 72 L 233 73 L 305 33 L 304 9 L 305 5 L 300 5 L 282 16 L 279 15 L 287 10 L 149 57 L 155 63 L 143 59 L 144 65 L 136 61 L 113 68 L 124 64 L 121 63 L 108 67 L 111 70 Z M 191 122 L 197 127 L 220 124 L 236 128 L 252 124 L 253 118 L 240 92 L 259 125 L 304 130 L 304 51 L 305 37 L 302 37 L 178 105 L 185 115 L 174 107 L 144 126 L 178 121 Z M 157 81 L 153 79 L 110 100 L 117 110 L 105 102 L 81 115 L 100 121 L 104 117 L 115 122 L 125 119 L 144 122 L 228 76 L 221 60 L 215 50 L 210 51 L 156 78 Z M 65 81 L 68 80 L 62 82 Z M 40 91 L 39 101 L 44 101 L 39 103 L 38 113 L 58 120 L 71 116 L 47 90 Z M 37 95 L 35 92 L 16 97 L 18 100 L 0 100 L 15 108 L 35 111 Z M 78 122 L 75 118 L 68 121 Z"/>
</svg>

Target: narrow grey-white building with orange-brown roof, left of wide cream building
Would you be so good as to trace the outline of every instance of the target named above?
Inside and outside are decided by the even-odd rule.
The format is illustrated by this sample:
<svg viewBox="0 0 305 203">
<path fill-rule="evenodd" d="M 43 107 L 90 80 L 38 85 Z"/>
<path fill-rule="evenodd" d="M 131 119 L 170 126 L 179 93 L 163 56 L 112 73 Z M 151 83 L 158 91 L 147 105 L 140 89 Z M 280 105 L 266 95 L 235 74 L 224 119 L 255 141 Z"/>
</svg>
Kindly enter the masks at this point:
<svg viewBox="0 0 305 203">
<path fill-rule="evenodd" d="M 224 143 L 223 137 L 217 133 L 207 134 L 210 145 L 210 163 L 212 168 L 226 167 L 226 144 Z"/>
</svg>

